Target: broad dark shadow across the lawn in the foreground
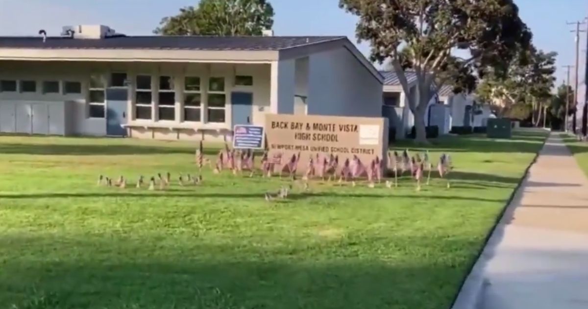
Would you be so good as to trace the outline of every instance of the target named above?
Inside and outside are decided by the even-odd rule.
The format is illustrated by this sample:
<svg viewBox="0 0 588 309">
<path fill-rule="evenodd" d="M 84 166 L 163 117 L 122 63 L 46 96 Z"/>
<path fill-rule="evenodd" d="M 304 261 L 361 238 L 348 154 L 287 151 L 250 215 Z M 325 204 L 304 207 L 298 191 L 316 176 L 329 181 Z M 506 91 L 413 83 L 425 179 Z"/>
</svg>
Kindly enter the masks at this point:
<svg viewBox="0 0 588 309">
<path fill-rule="evenodd" d="M 400 256 L 415 260 L 385 263 L 356 258 L 355 251 L 369 245 L 345 237 L 267 247 L 240 242 L 245 240 L 213 245 L 195 238 L 172 245 L 140 237 L 79 238 L 1 238 L 3 247 L 36 248 L 27 254 L 44 255 L 42 244 L 52 244 L 63 258 L 9 261 L 0 277 L 0 301 L 18 309 L 449 308 L 482 245 L 473 238 L 395 237 L 390 244 L 410 247 L 399 249 Z M 322 250 L 339 254 L 317 261 L 313 255 L 328 254 Z M 430 251 L 451 258 L 414 255 Z M 21 305 L 26 301 L 38 306 Z"/>
</svg>

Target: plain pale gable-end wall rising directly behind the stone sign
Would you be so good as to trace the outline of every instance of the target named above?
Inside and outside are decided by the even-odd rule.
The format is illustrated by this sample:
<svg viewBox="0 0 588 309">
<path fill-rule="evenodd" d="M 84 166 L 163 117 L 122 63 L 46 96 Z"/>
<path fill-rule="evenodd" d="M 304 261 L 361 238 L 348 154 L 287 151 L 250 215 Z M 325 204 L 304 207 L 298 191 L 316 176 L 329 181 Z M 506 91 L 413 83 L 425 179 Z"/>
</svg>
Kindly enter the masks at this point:
<svg viewBox="0 0 588 309">
<path fill-rule="evenodd" d="M 309 56 L 308 114 L 382 117 L 382 84 L 345 48 Z"/>
</svg>

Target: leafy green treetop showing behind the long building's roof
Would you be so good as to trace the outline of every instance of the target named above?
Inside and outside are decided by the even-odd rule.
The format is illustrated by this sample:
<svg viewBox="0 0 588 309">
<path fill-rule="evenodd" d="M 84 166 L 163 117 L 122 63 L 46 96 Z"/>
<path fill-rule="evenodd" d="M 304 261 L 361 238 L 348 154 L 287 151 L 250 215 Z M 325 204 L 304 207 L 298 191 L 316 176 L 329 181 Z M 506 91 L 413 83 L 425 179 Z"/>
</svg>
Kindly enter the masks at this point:
<svg viewBox="0 0 588 309">
<path fill-rule="evenodd" d="M 162 35 L 261 35 L 273 25 L 266 0 L 201 0 L 164 17 L 153 33 Z"/>
</svg>

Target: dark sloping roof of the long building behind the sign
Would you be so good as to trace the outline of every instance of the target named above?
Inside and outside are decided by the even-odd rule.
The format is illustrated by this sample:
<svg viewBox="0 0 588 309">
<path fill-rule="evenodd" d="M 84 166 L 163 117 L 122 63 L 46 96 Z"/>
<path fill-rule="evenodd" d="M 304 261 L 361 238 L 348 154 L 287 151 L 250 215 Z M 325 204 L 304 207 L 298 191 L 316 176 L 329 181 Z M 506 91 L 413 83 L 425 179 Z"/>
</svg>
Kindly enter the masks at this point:
<svg viewBox="0 0 588 309">
<path fill-rule="evenodd" d="M 278 51 L 347 39 L 346 36 L 111 36 L 72 39 L 48 36 L 0 36 L 0 48 L 189 49 L 202 51 Z"/>
</svg>

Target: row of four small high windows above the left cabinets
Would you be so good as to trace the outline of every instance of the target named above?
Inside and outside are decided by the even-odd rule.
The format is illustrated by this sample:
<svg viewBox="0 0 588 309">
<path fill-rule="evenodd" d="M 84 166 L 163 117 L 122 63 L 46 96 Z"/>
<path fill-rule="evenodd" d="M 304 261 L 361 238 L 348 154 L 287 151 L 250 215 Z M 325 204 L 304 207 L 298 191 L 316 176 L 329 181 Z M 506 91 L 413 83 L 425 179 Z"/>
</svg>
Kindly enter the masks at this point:
<svg viewBox="0 0 588 309">
<path fill-rule="evenodd" d="M 43 94 L 81 94 L 82 84 L 76 81 L 64 81 L 63 88 L 59 89 L 59 81 L 42 81 L 41 90 Z M 0 92 L 35 93 L 37 81 L 15 81 L 2 79 L 0 81 Z"/>
</svg>

